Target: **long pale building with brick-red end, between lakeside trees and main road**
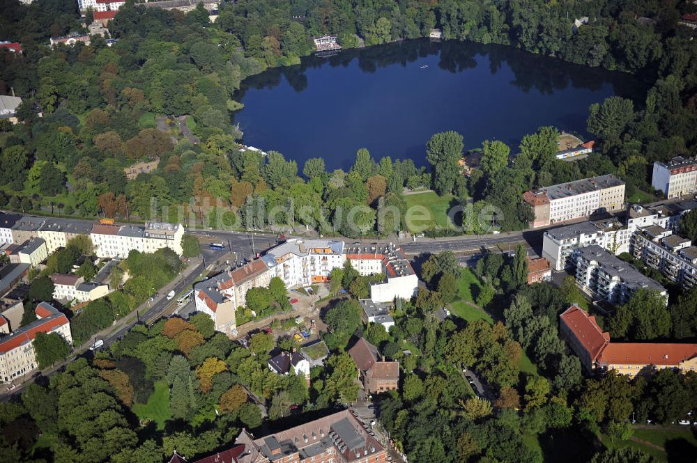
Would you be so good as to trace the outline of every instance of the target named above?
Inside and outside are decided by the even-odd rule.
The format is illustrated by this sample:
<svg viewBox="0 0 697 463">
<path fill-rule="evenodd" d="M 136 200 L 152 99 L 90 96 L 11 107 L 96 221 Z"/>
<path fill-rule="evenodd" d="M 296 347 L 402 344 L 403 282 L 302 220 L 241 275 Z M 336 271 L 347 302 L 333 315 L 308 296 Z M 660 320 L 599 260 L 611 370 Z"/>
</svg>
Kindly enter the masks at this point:
<svg viewBox="0 0 697 463">
<path fill-rule="evenodd" d="M 523 201 L 533 207 L 530 226 L 589 217 L 594 212 L 614 212 L 625 208 L 625 182 L 615 175 L 600 175 L 574 182 L 526 191 Z"/>
</svg>

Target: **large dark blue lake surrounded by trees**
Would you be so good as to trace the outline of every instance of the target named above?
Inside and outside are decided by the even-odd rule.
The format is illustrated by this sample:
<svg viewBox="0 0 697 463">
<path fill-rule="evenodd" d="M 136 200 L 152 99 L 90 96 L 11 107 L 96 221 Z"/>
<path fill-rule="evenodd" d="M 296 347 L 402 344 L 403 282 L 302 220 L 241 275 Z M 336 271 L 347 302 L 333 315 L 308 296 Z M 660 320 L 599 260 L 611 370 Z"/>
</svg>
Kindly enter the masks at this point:
<svg viewBox="0 0 697 463">
<path fill-rule="evenodd" d="M 425 67 L 427 66 L 427 67 Z M 501 45 L 407 40 L 302 58 L 245 79 L 233 116 L 243 143 L 348 168 L 358 148 L 374 159 L 425 163 L 432 134 L 456 130 L 465 148 L 499 139 L 517 152 L 542 125 L 588 137 L 588 107 L 620 95 L 641 105 L 646 87 L 628 74 L 565 63 Z"/>
</svg>

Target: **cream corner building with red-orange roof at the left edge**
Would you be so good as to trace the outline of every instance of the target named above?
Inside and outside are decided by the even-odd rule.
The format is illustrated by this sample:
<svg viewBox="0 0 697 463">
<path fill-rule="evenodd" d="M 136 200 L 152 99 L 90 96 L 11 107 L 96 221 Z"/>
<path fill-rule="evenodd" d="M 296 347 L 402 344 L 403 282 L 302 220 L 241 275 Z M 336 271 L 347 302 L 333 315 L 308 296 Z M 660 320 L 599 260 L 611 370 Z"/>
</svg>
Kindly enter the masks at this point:
<svg viewBox="0 0 697 463">
<path fill-rule="evenodd" d="M 66 315 L 47 302 L 35 309 L 36 322 L 0 338 L 0 379 L 10 382 L 37 367 L 33 340 L 36 333 L 58 333 L 72 345 L 70 322 Z"/>
</svg>

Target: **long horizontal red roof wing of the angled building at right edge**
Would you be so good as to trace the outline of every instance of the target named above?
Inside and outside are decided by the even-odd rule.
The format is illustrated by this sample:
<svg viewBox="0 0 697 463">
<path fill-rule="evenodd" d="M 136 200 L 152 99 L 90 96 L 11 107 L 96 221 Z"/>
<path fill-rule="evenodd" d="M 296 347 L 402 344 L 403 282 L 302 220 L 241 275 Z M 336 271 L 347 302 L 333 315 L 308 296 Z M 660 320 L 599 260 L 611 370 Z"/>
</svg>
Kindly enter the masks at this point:
<svg viewBox="0 0 697 463">
<path fill-rule="evenodd" d="M 697 356 L 697 344 L 610 343 L 598 363 L 624 365 L 675 365 Z"/>
</svg>

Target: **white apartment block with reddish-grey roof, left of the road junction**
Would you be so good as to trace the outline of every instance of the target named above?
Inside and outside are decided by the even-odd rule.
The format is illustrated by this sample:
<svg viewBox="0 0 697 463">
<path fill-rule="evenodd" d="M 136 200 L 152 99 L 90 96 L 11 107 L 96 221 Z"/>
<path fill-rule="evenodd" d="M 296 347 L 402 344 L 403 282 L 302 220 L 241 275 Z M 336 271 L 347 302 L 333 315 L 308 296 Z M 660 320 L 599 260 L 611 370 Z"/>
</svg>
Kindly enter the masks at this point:
<svg viewBox="0 0 697 463">
<path fill-rule="evenodd" d="M 127 258 L 131 250 L 153 253 L 169 248 L 181 256 L 181 223 L 147 222 L 144 227 L 95 223 L 90 233 L 95 255 L 101 258 Z"/>
</svg>

